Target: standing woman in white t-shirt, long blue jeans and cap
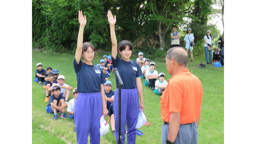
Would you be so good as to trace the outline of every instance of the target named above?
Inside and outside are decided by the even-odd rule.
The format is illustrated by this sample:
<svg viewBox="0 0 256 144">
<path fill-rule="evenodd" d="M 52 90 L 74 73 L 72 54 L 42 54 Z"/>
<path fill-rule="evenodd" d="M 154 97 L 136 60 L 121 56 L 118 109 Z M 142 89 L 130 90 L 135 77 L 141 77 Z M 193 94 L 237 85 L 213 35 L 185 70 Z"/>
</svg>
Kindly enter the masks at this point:
<svg viewBox="0 0 256 144">
<path fill-rule="evenodd" d="M 213 46 L 213 38 L 211 30 L 207 30 L 206 36 L 204 36 L 204 50 L 205 50 L 205 60 L 206 64 L 212 64 L 212 50 L 208 50 L 207 46 Z M 209 54 L 209 61 L 208 63 L 208 54 Z"/>
</svg>

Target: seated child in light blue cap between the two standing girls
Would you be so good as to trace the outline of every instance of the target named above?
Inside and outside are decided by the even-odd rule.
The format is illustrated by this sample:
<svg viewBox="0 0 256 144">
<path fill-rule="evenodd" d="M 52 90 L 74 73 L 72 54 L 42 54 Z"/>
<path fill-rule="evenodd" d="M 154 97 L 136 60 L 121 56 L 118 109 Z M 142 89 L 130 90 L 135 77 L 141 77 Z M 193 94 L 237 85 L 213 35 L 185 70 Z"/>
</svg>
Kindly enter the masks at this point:
<svg viewBox="0 0 256 144">
<path fill-rule="evenodd" d="M 104 83 L 107 109 L 109 109 L 110 104 L 114 102 L 115 92 L 113 90 L 111 90 L 111 88 L 112 88 L 112 82 L 110 80 L 107 80 L 106 83 Z"/>
</svg>

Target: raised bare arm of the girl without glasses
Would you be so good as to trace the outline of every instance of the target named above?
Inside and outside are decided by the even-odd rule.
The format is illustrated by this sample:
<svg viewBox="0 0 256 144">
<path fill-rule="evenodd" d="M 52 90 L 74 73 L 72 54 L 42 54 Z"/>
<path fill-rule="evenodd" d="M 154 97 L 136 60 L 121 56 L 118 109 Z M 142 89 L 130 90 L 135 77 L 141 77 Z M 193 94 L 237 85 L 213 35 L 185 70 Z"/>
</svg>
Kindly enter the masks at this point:
<svg viewBox="0 0 256 144">
<path fill-rule="evenodd" d="M 116 32 L 115 32 L 116 16 L 113 17 L 110 11 L 108 11 L 108 22 L 110 24 L 110 35 L 111 35 L 111 41 L 112 41 L 111 55 L 116 60 L 116 56 L 117 56 L 117 40 L 116 40 Z"/>
</svg>

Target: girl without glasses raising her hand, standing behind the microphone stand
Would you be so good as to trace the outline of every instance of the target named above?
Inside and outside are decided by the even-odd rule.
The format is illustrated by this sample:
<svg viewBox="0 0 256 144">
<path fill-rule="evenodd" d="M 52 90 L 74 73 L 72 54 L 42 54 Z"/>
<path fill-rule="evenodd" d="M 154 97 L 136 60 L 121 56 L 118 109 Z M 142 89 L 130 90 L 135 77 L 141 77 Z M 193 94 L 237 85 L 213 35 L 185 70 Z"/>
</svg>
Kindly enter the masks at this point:
<svg viewBox="0 0 256 144">
<path fill-rule="evenodd" d="M 136 123 L 140 108 L 144 112 L 144 100 L 142 92 L 142 84 L 140 76 L 142 71 L 138 62 L 130 60 L 132 55 L 132 43 L 128 40 L 121 41 L 117 46 L 115 24 L 116 16 L 113 17 L 112 13 L 108 11 L 108 22 L 110 24 L 110 33 L 112 41 L 112 64 L 114 68 L 118 69 L 120 78 L 123 81 L 121 90 L 121 143 L 124 144 L 126 134 L 127 122 L 127 143 L 135 144 L 136 142 Z M 118 52 L 121 57 L 118 58 Z M 116 131 L 116 143 L 118 143 L 118 101 L 119 101 L 119 81 L 116 76 L 116 92 L 114 100 L 114 119 Z M 139 96 L 138 96 L 139 95 Z M 140 102 L 139 102 L 140 97 Z"/>
</svg>

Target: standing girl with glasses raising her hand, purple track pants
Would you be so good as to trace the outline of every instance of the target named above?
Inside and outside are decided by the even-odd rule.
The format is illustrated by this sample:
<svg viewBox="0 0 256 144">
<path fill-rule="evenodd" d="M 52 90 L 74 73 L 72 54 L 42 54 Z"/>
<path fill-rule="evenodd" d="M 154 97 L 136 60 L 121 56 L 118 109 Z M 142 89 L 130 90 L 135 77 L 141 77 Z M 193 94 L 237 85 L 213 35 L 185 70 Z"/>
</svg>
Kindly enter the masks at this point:
<svg viewBox="0 0 256 144">
<path fill-rule="evenodd" d="M 83 43 L 86 16 L 82 11 L 78 11 L 78 20 L 80 28 L 74 59 L 78 88 L 74 106 L 76 140 L 78 144 L 87 144 L 90 133 L 90 144 L 100 144 L 100 118 L 108 114 L 104 92 L 106 79 L 102 69 L 92 64 L 96 48 L 90 42 Z"/>
</svg>

